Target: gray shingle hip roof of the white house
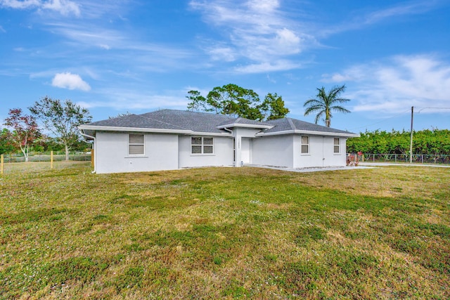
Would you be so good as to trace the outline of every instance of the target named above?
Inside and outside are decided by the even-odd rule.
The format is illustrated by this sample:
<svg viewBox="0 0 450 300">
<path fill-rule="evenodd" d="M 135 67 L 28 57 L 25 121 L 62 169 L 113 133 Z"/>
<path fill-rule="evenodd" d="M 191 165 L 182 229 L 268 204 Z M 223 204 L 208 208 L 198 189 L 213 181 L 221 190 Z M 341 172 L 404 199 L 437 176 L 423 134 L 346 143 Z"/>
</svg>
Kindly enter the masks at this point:
<svg viewBox="0 0 450 300">
<path fill-rule="evenodd" d="M 348 131 L 328 128 L 326 126 L 300 121 L 299 119 L 284 118 L 267 122 L 257 122 L 242 117 L 233 118 L 226 115 L 217 115 L 207 112 L 188 112 L 186 110 L 157 110 L 142 115 L 126 115 L 85 125 L 89 127 L 86 128 L 89 130 L 93 130 L 91 126 L 107 126 L 130 129 L 181 130 L 198 133 L 228 133 L 228 131 L 224 131 L 224 129 L 217 128 L 228 124 L 255 125 L 255 128 L 261 128 L 260 126 L 273 126 L 270 129 L 266 129 L 264 133 L 275 134 L 283 131 L 316 131 L 349 134 Z"/>
</svg>

